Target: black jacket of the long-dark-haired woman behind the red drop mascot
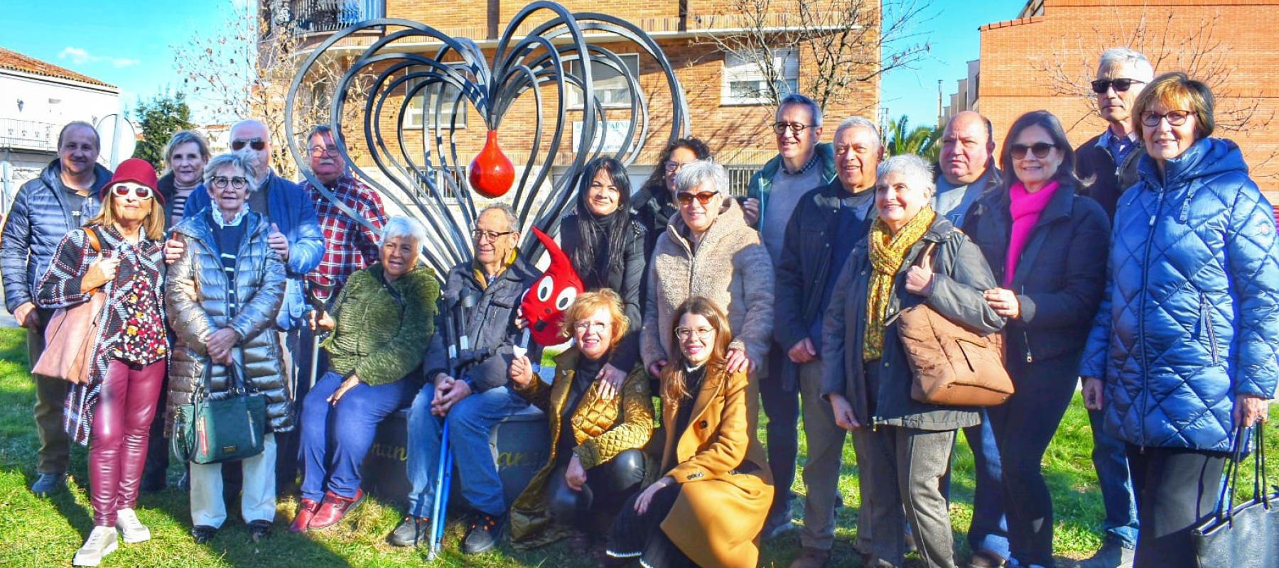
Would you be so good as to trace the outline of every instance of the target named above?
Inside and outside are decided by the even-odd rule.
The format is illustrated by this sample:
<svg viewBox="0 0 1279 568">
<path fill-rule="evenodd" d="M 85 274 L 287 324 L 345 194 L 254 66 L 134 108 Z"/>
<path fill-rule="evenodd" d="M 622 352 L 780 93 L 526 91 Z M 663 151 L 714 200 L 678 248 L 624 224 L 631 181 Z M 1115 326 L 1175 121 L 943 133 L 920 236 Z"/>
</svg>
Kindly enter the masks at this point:
<svg viewBox="0 0 1279 568">
<path fill-rule="evenodd" d="M 582 243 L 582 230 L 577 221 L 577 215 L 570 215 L 564 217 L 564 221 L 560 224 L 560 248 L 569 260 L 573 258 L 573 252 Z M 647 230 L 645 230 L 638 220 L 632 217 L 631 230 L 627 232 L 627 239 L 622 246 L 624 251 L 622 264 L 609 264 L 609 275 L 605 281 L 595 281 L 595 279 L 587 276 L 587 271 L 582 270 L 582 267 L 573 266 L 578 276 L 582 276 L 582 284 L 586 285 L 587 290 L 609 288 L 622 297 L 622 307 L 627 315 L 627 320 L 631 320 L 631 325 L 628 326 L 627 335 L 618 343 L 618 351 L 613 354 L 611 362 L 614 367 L 623 371 L 629 371 L 640 361 L 640 329 L 643 327 L 643 319 L 641 316 L 641 298 L 643 297 L 640 296 L 640 290 L 645 274 L 648 272 L 648 256 L 645 255 L 643 248 L 647 241 L 646 237 Z"/>
</svg>

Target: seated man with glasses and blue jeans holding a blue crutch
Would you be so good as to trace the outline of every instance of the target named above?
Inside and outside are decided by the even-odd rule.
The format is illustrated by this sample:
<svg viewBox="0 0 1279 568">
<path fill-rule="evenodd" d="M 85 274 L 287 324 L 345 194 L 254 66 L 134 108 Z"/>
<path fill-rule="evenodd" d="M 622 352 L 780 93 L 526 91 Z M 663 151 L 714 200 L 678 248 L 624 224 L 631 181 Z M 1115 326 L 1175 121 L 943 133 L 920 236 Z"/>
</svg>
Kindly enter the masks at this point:
<svg viewBox="0 0 1279 568">
<path fill-rule="evenodd" d="M 509 503 L 489 450 L 489 432 L 503 418 L 528 406 L 509 386 L 509 367 L 517 348 L 528 348 L 538 361 L 541 348 L 521 345 L 515 326 L 519 299 L 540 272 L 518 257 L 519 221 L 505 203 L 480 211 L 471 232 L 475 261 L 449 270 L 440 298 L 436 329 L 463 329 L 471 349 L 450 361 L 441 334 L 431 338 L 422 368 L 427 385 L 413 399 L 408 414 L 408 513 L 388 540 L 396 546 L 422 542 L 428 532 L 435 498 L 440 444 L 449 444 L 459 471 L 462 495 L 480 517 L 462 542 L 462 551 L 478 554 L 494 548 L 506 521 Z M 450 363 L 453 368 L 450 368 Z M 449 439 L 443 440 L 444 418 Z M 443 521 L 443 519 L 441 519 Z"/>
</svg>

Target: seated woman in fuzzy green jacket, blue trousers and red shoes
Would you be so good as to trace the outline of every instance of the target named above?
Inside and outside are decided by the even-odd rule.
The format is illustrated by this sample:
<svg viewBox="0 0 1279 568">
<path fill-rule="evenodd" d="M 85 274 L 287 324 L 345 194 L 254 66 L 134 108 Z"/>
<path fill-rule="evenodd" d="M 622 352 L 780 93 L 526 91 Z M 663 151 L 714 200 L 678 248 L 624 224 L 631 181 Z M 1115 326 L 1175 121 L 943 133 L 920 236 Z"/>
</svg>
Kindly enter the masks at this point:
<svg viewBox="0 0 1279 568">
<path fill-rule="evenodd" d="M 365 499 L 359 464 L 377 423 L 408 407 L 422 389 L 423 345 L 435 334 L 440 283 L 418 261 L 426 228 L 393 217 L 382 228 L 380 261 L 356 271 L 316 322 L 333 330 L 321 344 L 326 372 L 302 400 L 302 504 L 293 532 L 329 528 Z"/>
</svg>

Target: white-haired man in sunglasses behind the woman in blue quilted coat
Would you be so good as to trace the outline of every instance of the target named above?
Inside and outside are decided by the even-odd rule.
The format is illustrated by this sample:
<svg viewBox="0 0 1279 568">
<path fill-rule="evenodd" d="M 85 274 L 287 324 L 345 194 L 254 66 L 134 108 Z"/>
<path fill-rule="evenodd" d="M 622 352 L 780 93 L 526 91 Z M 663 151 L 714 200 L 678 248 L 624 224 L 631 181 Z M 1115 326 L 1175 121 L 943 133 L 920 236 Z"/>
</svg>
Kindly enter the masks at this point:
<svg viewBox="0 0 1279 568">
<path fill-rule="evenodd" d="M 1137 162 L 1146 150 L 1133 130 L 1132 105 L 1155 77 L 1155 69 L 1138 51 L 1114 47 L 1101 54 L 1097 79 L 1097 114 L 1109 127 L 1100 136 L 1076 150 L 1076 171 L 1082 179 L 1092 178 L 1088 196 L 1114 219 L 1119 194 L 1137 183 Z M 1088 568 L 1132 565 L 1137 546 L 1137 508 L 1132 491 L 1132 475 L 1124 457 L 1124 444 L 1102 431 L 1101 411 L 1088 411 L 1092 425 L 1092 467 L 1097 471 L 1101 500 L 1106 518 L 1101 523 L 1105 539 L 1101 550 L 1083 563 Z"/>
</svg>

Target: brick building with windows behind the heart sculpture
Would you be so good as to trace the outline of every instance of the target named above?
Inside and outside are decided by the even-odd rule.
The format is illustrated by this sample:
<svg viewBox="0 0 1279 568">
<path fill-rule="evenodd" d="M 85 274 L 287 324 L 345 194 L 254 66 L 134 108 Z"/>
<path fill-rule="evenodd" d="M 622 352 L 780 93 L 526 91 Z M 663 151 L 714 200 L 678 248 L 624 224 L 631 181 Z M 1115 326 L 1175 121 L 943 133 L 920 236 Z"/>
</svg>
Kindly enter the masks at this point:
<svg viewBox="0 0 1279 568">
<path fill-rule="evenodd" d="M 757 86 L 762 77 L 753 69 L 752 64 L 726 56 L 709 43 L 707 38 L 718 33 L 732 33 L 743 26 L 739 15 L 729 14 L 729 1 L 726 0 L 657 0 L 648 3 L 634 3 L 631 0 L 561 0 L 570 12 L 596 12 L 625 18 L 640 26 L 665 52 L 671 68 L 675 70 L 680 84 L 686 90 L 689 106 L 689 122 L 692 134 L 706 141 L 715 152 L 715 159 L 730 169 L 734 187 L 743 187 L 755 169 L 776 154 L 774 136 L 770 129 L 773 123 L 773 110 L 762 100 L 743 95 L 751 86 Z M 280 10 L 280 1 L 265 0 L 263 9 Z M 469 37 L 483 50 L 486 58 L 492 64 L 492 56 L 501 33 L 506 29 L 510 19 L 527 4 L 526 0 L 492 0 L 487 3 L 420 3 L 416 0 L 362 0 L 331 1 L 331 0 L 304 0 L 289 1 L 288 20 L 290 20 L 306 36 L 307 45 L 315 45 L 336 29 L 345 26 L 372 18 L 403 18 L 425 23 L 430 27 L 453 37 Z M 783 33 L 788 29 L 788 17 L 792 10 L 781 8 L 790 6 L 787 1 L 776 1 L 779 8 L 776 14 L 771 14 L 774 29 Z M 547 13 L 549 14 L 549 13 Z M 541 20 L 545 20 L 544 17 Z M 538 20 L 538 22 L 541 22 Z M 527 32 L 532 26 L 521 27 L 521 32 Z M 395 31 L 396 28 L 391 28 Z M 381 37 L 352 38 L 334 46 L 330 51 L 338 56 L 357 56 L 363 47 Z M 592 41 L 591 37 L 587 38 Z M 439 50 L 439 42 L 408 42 L 396 45 L 398 50 L 409 52 L 422 52 L 431 55 Z M 637 184 L 646 179 L 654 169 L 657 154 L 664 146 L 664 141 L 670 132 L 670 118 L 665 109 L 670 109 L 669 95 L 665 95 L 665 75 L 661 73 L 656 60 L 646 54 L 636 54 L 629 45 L 615 42 L 609 45 L 616 51 L 623 61 L 637 72 L 640 88 L 646 93 L 650 106 L 648 138 L 645 151 L 636 159 L 631 168 L 632 179 Z M 812 61 L 806 60 L 802 49 L 778 50 L 773 54 L 783 69 L 781 81 L 794 88 L 803 84 L 801 75 L 811 72 Z M 632 120 L 629 101 L 625 95 L 624 78 L 608 69 L 605 65 L 592 67 L 596 96 L 605 102 L 605 120 L 614 123 L 613 127 L 627 124 Z M 554 129 L 554 114 L 558 96 L 554 86 L 542 87 L 544 111 L 546 114 L 542 127 L 546 147 L 549 132 Z M 574 122 L 581 120 L 579 95 L 569 93 L 568 116 L 564 137 L 565 145 L 570 142 Z M 445 100 L 450 100 L 445 96 Z M 399 100 L 389 100 L 388 106 L 398 106 Z M 610 102 L 611 101 L 611 102 Z M 423 102 L 414 101 L 411 106 L 409 116 L 404 120 L 405 127 L 421 127 L 423 119 L 421 109 L 434 109 L 432 99 Z M 828 122 L 838 122 L 853 114 L 863 114 L 874 118 L 879 106 L 879 82 L 872 81 L 859 83 L 849 88 L 842 100 L 828 105 Z M 427 113 L 428 114 L 428 113 Z M 384 134 L 394 134 L 394 113 L 386 111 L 379 116 L 379 123 Z M 531 93 L 524 93 L 506 113 L 499 128 L 499 137 L 503 150 L 515 162 L 517 169 L 527 159 L 528 147 L 535 129 L 535 109 Z M 459 146 L 459 161 L 468 162 L 483 143 L 483 120 L 476 114 L 475 107 L 467 107 L 459 116 L 462 129 L 455 134 Z M 434 127 L 434 124 L 426 124 Z M 432 134 L 427 129 L 427 138 Z M 829 139 L 830 132 L 826 133 Z M 405 146 L 411 151 L 420 152 L 422 133 L 405 128 Z M 394 145 L 394 141 L 390 142 Z M 555 164 L 564 164 L 572 157 L 572 148 L 560 151 Z M 357 160 L 361 165 L 368 160 Z M 366 171 L 373 170 L 367 168 Z M 556 168 L 553 168 L 553 174 Z"/>
</svg>

